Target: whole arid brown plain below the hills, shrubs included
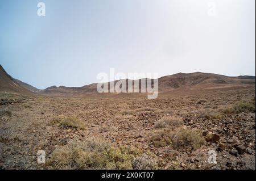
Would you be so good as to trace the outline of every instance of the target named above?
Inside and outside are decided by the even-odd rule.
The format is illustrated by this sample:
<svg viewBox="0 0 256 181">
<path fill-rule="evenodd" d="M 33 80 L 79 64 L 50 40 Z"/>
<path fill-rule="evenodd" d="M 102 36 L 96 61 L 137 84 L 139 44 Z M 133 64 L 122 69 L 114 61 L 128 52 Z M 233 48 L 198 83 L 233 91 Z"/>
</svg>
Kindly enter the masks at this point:
<svg viewBox="0 0 256 181">
<path fill-rule="evenodd" d="M 0 169 L 255 169 L 255 87 L 157 99 L 1 92 L 0 147 Z"/>
</svg>

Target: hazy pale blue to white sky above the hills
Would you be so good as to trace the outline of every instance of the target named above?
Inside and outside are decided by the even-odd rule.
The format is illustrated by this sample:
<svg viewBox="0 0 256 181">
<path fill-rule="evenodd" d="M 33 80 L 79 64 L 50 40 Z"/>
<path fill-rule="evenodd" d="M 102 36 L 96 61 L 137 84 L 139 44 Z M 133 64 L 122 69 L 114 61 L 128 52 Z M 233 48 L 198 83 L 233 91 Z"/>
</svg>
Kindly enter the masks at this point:
<svg viewBox="0 0 256 181">
<path fill-rule="evenodd" d="M 255 0 L 1 0 L 0 64 L 39 89 L 110 68 L 255 75 Z"/>
</svg>

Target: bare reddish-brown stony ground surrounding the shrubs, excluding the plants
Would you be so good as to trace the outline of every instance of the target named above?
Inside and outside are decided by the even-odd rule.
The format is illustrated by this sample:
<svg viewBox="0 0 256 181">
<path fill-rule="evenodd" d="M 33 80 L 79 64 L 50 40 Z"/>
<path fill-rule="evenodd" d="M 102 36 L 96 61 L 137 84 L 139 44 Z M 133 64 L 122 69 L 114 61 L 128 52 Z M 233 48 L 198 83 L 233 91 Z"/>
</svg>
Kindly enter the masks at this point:
<svg viewBox="0 0 256 181">
<path fill-rule="evenodd" d="M 217 111 L 241 100 L 254 101 L 254 110 Z M 85 128 L 52 124 L 60 115 L 77 117 Z M 180 127 L 199 129 L 205 143 L 197 149 L 155 146 L 151 137 L 164 116 L 181 117 Z M 255 169 L 255 88 L 167 92 L 154 100 L 143 95 L 0 95 L 0 169 L 47 169 L 37 163 L 37 151 L 45 150 L 48 159 L 75 137 L 151 151 L 177 163 L 175 169 Z M 208 163 L 209 150 L 216 151 L 217 163 Z M 170 169 L 164 164 L 159 169 Z"/>
</svg>

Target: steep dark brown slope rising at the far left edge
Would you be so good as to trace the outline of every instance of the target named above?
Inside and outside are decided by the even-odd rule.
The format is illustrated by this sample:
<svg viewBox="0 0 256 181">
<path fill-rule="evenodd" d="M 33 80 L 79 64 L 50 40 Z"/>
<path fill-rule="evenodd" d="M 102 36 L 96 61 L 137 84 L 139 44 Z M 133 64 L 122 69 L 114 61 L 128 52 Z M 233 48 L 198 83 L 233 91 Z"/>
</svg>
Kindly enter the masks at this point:
<svg viewBox="0 0 256 181">
<path fill-rule="evenodd" d="M 6 73 L 5 69 L 0 65 L 0 91 L 14 92 L 18 94 L 33 94 L 33 92 L 25 89 L 13 77 Z"/>
</svg>

